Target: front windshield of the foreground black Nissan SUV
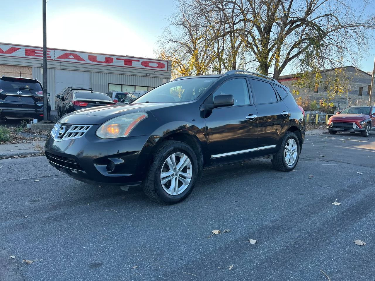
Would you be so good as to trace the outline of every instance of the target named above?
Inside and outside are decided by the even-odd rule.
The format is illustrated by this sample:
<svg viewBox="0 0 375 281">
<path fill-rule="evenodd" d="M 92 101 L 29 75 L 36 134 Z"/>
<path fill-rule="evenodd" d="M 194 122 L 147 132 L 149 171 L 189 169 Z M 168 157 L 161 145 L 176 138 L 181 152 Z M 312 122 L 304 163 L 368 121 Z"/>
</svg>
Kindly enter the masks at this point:
<svg viewBox="0 0 375 281">
<path fill-rule="evenodd" d="M 216 79 L 199 77 L 171 81 L 150 90 L 132 103 L 190 102 L 201 95 Z"/>
</svg>

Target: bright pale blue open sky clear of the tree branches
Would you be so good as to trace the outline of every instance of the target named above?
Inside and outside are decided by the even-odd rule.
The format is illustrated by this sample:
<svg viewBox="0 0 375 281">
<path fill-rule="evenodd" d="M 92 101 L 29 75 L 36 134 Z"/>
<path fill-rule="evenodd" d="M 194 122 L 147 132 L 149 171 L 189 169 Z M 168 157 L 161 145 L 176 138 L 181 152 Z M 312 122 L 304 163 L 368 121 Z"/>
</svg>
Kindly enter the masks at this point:
<svg viewBox="0 0 375 281">
<path fill-rule="evenodd" d="M 0 42 L 42 46 L 42 0 L 4 2 Z M 173 0 L 49 0 L 47 46 L 152 58 L 173 5 Z M 362 70 L 372 71 L 374 55 L 375 48 L 362 60 Z"/>
</svg>

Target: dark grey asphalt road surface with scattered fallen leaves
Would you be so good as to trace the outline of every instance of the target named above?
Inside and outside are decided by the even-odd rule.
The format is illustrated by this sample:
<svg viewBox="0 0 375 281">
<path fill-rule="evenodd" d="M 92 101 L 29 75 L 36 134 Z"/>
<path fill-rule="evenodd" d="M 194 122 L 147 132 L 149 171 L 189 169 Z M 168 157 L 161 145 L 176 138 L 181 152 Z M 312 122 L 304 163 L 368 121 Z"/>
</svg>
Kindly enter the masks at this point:
<svg viewBox="0 0 375 281">
<path fill-rule="evenodd" d="M 45 157 L 0 160 L 0 280 L 373 281 L 374 174 L 375 132 L 306 136 L 293 172 L 266 159 L 205 170 L 173 206 Z"/>
</svg>

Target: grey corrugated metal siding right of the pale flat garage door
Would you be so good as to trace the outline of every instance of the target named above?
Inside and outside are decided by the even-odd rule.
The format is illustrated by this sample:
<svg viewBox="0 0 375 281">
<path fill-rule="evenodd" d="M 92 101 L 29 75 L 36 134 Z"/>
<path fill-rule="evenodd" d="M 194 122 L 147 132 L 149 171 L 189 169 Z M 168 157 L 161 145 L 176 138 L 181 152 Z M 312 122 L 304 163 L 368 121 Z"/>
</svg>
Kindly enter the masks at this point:
<svg viewBox="0 0 375 281">
<path fill-rule="evenodd" d="M 165 82 L 169 82 L 170 79 L 151 76 L 90 72 L 90 80 L 93 90 L 107 93 L 108 84 L 157 87 Z"/>
</svg>

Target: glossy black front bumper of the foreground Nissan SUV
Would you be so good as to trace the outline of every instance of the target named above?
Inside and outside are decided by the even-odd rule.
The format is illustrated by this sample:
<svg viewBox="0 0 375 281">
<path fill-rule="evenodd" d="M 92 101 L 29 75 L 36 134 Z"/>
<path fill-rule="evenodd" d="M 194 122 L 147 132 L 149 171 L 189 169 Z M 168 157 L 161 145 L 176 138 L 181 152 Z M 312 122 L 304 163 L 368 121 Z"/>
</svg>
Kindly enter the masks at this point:
<svg viewBox="0 0 375 281">
<path fill-rule="evenodd" d="M 98 127 L 92 126 L 76 139 L 55 141 L 50 135 L 44 148 L 49 163 L 72 178 L 88 183 L 130 185 L 142 181 L 159 137 L 100 139 L 95 135 Z M 111 164 L 114 169 L 108 170 Z"/>
</svg>

